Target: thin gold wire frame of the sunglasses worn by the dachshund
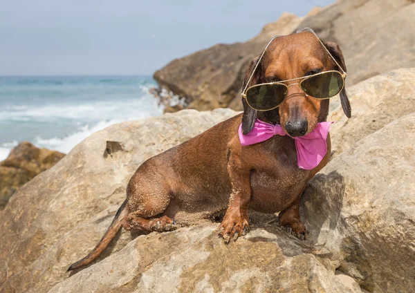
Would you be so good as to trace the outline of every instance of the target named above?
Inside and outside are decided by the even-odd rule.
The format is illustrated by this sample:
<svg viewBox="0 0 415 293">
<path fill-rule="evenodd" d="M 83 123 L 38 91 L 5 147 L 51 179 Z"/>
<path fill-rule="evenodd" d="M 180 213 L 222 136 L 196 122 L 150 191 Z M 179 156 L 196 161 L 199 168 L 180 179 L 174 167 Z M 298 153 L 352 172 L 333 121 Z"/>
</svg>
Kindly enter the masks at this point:
<svg viewBox="0 0 415 293">
<path fill-rule="evenodd" d="M 340 73 L 340 71 L 338 71 L 338 70 L 327 70 L 327 71 L 323 71 L 323 72 L 321 72 L 321 73 L 316 73 L 316 74 L 314 74 L 314 75 L 308 75 L 308 76 L 303 76 L 303 77 L 297 77 L 297 78 L 292 78 L 292 79 L 286 79 L 286 80 L 282 80 L 281 82 L 268 82 L 268 83 L 265 83 L 265 84 L 254 84 L 253 86 L 249 86 L 248 87 L 248 85 L 250 84 L 250 82 L 251 82 L 251 79 L 252 79 L 252 77 L 254 76 L 254 73 L 255 73 L 255 71 L 257 70 L 257 68 L 258 68 L 258 65 L 260 64 L 260 62 L 261 62 L 261 60 L 262 60 L 262 57 L 264 57 L 264 54 L 265 54 L 265 52 L 266 52 L 266 49 L 268 49 L 268 47 L 270 46 L 270 44 L 275 40 L 275 39 L 277 39 L 277 37 L 281 37 L 281 36 L 275 36 L 275 37 L 273 37 L 272 39 L 270 39 L 270 41 L 268 42 L 268 44 L 266 45 L 266 47 L 265 47 L 265 49 L 264 49 L 264 51 L 262 52 L 262 54 L 261 54 L 261 57 L 259 57 L 259 59 L 258 59 L 258 62 L 257 62 L 257 64 L 255 65 L 255 68 L 254 68 L 254 70 L 252 70 L 252 73 L 251 73 L 251 75 L 250 75 L 250 77 L 249 77 L 249 79 L 248 79 L 248 82 L 246 83 L 246 85 L 245 85 L 245 88 L 243 88 L 243 91 L 242 91 L 242 93 L 241 93 L 241 95 L 242 95 L 242 98 L 244 98 L 245 100 L 246 100 L 246 103 L 248 104 L 248 106 L 250 106 L 251 108 L 253 108 L 253 109 L 255 109 L 256 111 L 261 111 L 261 112 L 264 112 L 264 111 L 270 111 L 270 110 L 273 110 L 273 109 L 275 109 L 275 108 L 277 108 L 280 104 L 282 104 L 282 102 L 281 103 L 279 103 L 277 106 L 275 106 L 275 107 L 273 107 L 273 108 L 269 108 L 269 109 L 267 109 L 267 110 L 258 110 L 257 108 L 254 108 L 254 107 L 252 107 L 250 104 L 249 104 L 249 102 L 248 102 L 248 99 L 246 98 L 246 92 L 250 89 L 250 88 L 254 88 L 254 87 L 257 87 L 257 86 L 264 86 L 264 85 L 273 85 L 273 84 L 282 84 L 282 85 L 284 85 L 284 86 L 286 86 L 286 88 L 287 88 L 287 91 L 288 91 L 288 87 L 290 87 L 290 86 L 294 86 L 294 85 L 298 85 L 299 86 L 299 88 L 303 91 L 303 93 L 304 94 L 306 94 L 306 97 L 312 97 L 311 95 L 308 95 L 303 89 L 302 89 L 302 87 L 301 87 L 301 84 L 302 84 L 302 82 L 304 82 L 304 80 L 306 80 L 306 79 L 309 79 L 309 78 L 311 78 L 311 77 L 315 77 L 315 76 L 317 76 L 317 75 L 322 75 L 322 74 L 324 74 L 324 73 L 330 73 L 330 72 L 336 72 L 336 73 L 340 73 L 340 76 L 342 77 L 342 79 L 343 79 L 343 85 L 342 85 L 342 88 L 340 89 L 340 91 L 338 92 L 338 93 L 340 93 L 342 90 L 343 90 L 343 88 L 344 88 L 344 83 L 345 83 L 345 78 L 347 77 L 347 73 L 346 73 L 346 71 L 344 71 L 344 69 L 342 68 L 342 66 L 340 66 L 340 64 L 338 64 L 338 62 L 334 59 L 334 57 L 333 57 L 333 55 L 331 55 L 331 53 L 330 53 L 330 51 L 326 48 L 326 46 L 324 46 L 324 44 L 323 44 L 323 42 L 320 40 L 320 38 L 319 37 L 317 37 L 317 35 L 315 34 L 315 32 L 314 32 L 314 30 L 312 30 L 311 28 L 303 28 L 302 30 L 298 30 L 297 31 L 297 33 L 298 32 L 311 32 L 316 38 L 317 38 L 317 40 L 320 42 L 320 44 L 322 45 L 322 47 L 324 48 L 324 50 L 326 50 L 326 53 L 328 53 L 329 54 L 329 56 L 331 57 L 331 59 L 333 59 L 333 61 L 335 62 L 335 64 L 338 66 L 338 68 L 340 68 L 340 70 L 342 70 L 342 73 Z M 296 83 L 296 84 L 288 84 L 288 86 L 286 85 L 286 84 L 284 84 L 284 82 L 291 82 L 291 81 L 293 81 L 293 80 L 297 80 L 297 79 L 302 79 L 302 81 L 301 82 L 299 82 L 299 83 Z M 338 94 L 338 93 L 336 93 L 336 95 Z M 332 95 L 331 97 L 334 97 L 335 95 Z M 318 98 L 318 97 L 313 97 L 314 99 L 317 99 L 317 100 L 326 100 L 326 99 L 330 99 L 331 97 L 324 97 L 324 98 Z M 282 100 L 283 102 L 284 102 L 284 100 L 285 100 L 285 98 L 286 98 L 286 96 L 284 97 L 284 99 Z"/>
</svg>

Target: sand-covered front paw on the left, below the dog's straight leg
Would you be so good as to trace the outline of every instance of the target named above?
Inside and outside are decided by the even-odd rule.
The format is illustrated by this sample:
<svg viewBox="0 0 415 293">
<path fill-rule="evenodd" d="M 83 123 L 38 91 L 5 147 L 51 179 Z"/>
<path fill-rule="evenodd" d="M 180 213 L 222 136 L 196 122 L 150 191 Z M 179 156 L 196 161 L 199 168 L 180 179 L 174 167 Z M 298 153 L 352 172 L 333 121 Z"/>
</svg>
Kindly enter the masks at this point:
<svg viewBox="0 0 415 293">
<path fill-rule="evenodd" d="M 219 236 L 225 240 L 225 243 L 228 243 L 231 239 L 237 240 L 238 236 L 243 236 L 249 231 L 248 215 L 228 215 L 226 213 L 219 229 L 221 230 Z"/>
</svg>

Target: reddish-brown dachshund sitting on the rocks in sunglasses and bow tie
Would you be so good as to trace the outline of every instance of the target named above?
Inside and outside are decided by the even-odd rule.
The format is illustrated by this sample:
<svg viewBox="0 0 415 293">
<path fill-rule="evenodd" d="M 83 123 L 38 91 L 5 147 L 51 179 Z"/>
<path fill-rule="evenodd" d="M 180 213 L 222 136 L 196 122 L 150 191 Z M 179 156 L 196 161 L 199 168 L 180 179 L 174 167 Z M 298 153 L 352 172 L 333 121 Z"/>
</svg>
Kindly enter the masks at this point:
<svg viewBox="0 0 415 293">
<path fill-rule="evenodd" d="M 337 44 L 324 46 L 346 70 Z M 252 60 L 244 83 L 248 81 L 258 58 Z M 279 37 L 264 53 L 250 85 L 286 80 L 333 70 L 338 66 L 311 32 Z M 292 84 L 294 82 L 287 82 Z M 344 89 L 340 93 L 344 113 L 350 106 Z M 287 124 L 306 121 L 309 133 L 317 122 L 326 120 L 329 100 L 306 96 L 299 86 L 290 86 L 284 102 L 276 109 L 257 112 L 243 99 L 243 115 L 237 115 L 208 129 L 201 135 L 144 162 L 131 178 L 127 200 L 121 205 L 106 234 L 91 253 L 68 270 L 91 263 L 97 258 L 120 227 L 127 230 L 171 231 L 201 219 L 212 219 L 226 211 L 220 235 L 227 241 L 249 230 L 248 207 L 262 213 L 279 213 L 279 225 L 304 239 L 306 229 L 299 219 L 299 200 L 306 183 L 329 161 L 327 153 L 313 170 L 297 167 L 295 142 L 290 136 L 278 136 L 246 147 L 241 146 L 238 128 L 249 133 L 258 118 L 264 122 Z M 301 127 L 301 126 L 298 126 Z"/>
</svg>

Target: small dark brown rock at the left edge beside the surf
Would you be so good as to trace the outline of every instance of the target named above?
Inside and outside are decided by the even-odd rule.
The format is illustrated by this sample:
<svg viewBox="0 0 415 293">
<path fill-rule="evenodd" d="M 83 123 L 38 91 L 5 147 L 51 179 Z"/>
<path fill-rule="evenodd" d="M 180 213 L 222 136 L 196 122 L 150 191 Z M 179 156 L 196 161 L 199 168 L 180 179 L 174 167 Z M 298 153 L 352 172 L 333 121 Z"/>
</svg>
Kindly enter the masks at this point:
<svg viewBox="0 0 415 293">
<path fill-rule="evenodd" d="M 0 162 L 0 209 L 6 206 L 15 191 L 37 174 L 53 167 L 64 153 L 38 149 L 30 142 L 21 142 Z"/>
</svg>

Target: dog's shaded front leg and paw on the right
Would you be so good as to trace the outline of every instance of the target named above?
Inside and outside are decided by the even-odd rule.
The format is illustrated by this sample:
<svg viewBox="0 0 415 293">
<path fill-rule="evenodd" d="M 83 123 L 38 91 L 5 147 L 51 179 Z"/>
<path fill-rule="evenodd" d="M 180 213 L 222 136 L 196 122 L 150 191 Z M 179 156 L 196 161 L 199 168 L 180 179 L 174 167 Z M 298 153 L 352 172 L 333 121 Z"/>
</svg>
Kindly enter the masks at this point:
<svg viewBox="0 0 415 293">
<path fill-rule="evenodd" d="M 278 222 L 279 226 L 284 228 L 288 234 L 292 234 L 300 240 L 305 240 L 307 230 L 299 219 L 299 200 L 301 199 L 301 195 L 302 193 L 284 211 L 279 212 Z"/>
</svg>

